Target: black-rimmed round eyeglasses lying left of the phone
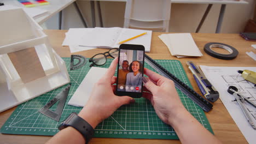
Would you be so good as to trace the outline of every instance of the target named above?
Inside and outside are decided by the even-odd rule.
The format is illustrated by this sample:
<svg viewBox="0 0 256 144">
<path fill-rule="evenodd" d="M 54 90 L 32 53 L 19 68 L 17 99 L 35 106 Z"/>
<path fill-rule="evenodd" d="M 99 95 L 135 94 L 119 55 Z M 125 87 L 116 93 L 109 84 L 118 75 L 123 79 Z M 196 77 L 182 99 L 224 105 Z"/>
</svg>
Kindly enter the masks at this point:
<svg viewBox="0 0 256 144">
<path fill-rule="evenodd" d="M 94 65 L 101 66 L 101 65 L 106 64 L 108 56 L 110 56 L 112 58 L 118 57 L 118 51 L 119 50 L 117 48 L 113 48 L 107 52 L 98 53 L 97 55 L 95 55 L 89 59 L 89 62 L 92 62 L 90 67 L 92 67 Z"/>
</svg>

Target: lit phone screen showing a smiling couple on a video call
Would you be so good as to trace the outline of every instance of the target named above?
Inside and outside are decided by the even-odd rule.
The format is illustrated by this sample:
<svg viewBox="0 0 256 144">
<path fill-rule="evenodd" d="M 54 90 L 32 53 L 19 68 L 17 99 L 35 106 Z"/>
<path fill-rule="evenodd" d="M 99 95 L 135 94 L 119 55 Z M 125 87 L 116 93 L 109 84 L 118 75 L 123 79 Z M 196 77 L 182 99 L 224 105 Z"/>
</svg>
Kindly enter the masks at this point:
<svg viewBox="0 0 256 144">
<path fill-rule="evenodd" d="M 118 91 L 142 92 L 143 51 L 120 50 Z"/>
</svg>

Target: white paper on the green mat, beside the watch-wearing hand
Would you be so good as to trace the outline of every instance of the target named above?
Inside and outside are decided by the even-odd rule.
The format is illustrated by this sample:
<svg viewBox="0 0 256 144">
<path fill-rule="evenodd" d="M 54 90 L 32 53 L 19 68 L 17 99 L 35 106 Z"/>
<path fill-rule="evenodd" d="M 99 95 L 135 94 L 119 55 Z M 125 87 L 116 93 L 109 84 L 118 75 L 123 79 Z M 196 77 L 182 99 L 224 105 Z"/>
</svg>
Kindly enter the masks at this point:
<svg viewBox="0 0 256 144">
<path fill-rule="evenodd" d="M 72 98 L 68 101 L 68 105 L 84 107 L 90 98 L 94 84 L 101 79 L 106 73 L 107 68 L 91 67 L 84 80 L 73 94 Z"/>
</svg>

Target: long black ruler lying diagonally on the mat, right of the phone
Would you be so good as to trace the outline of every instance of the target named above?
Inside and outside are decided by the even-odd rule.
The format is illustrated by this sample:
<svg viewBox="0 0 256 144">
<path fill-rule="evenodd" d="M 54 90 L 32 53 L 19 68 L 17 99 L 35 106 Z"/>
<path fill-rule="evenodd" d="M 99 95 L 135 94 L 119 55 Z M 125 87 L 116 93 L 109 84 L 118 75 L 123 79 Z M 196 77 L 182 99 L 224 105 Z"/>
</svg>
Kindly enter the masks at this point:
<svg viewBox="0 0 256 144">
<path fill-rule="evenodd" d="M 171 74 L 168 70 L 166 70 L 157 62 L 155 62 L 152 58 L 145 55 L 145 62 L 147 62 L 153 69 L 158 71 L 158 73 L 160 73 L 162 76 L 171 79 L 174 82 L 176 88 L 181 90 L 185 95 L 187 95 L 191 100 L 193 100 L 197 105 L 199 105 L 204 111 L 208 112 L 212 109 L 213 105 L 209 101 L 207 101 L 201 95 L 196 93 L 188 85 L 179 80 L 176 76 Z"/>
</svg>

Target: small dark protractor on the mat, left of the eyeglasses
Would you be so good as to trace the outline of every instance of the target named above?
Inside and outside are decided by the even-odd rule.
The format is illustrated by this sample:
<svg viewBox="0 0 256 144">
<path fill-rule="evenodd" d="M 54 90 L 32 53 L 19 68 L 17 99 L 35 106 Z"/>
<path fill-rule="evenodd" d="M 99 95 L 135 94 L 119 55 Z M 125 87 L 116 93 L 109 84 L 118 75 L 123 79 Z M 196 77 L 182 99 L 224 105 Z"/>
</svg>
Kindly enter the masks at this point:
<svg viewBox="0 0 256 144">
<path fill-rule="evenodd" d="M 74 59 L 78 59 L 78 63 L 74 64 Z M 87 59 L 81 55 L 71 55 L 70 70 L 82 68 L 87 62 Z"/>
</svg>

